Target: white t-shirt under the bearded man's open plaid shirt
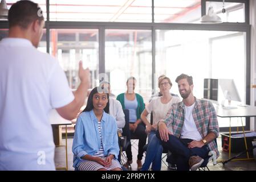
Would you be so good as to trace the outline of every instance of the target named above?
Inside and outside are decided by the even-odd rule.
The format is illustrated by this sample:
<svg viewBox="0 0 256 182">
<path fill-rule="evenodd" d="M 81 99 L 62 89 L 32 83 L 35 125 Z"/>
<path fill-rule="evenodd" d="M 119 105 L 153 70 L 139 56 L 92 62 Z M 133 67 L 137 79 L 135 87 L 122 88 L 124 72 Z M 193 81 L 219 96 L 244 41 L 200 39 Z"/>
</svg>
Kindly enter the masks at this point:
<svg viewBox="0 0 256 182">
<path fill-rule="evenodd" d="M 195 103 L 196 102 L 194 102 L 194 104 Z M 188 138 L 188 139 L 200 141 L 202 137 L 197 130 L 197 126 L 196 126 L 196 123 L 194 123 L 194 118 L 192 115 L 194 104 L 191 106 L 185 106 L 184 124 L 181 129 L 180 138 Z"/>
</svg>

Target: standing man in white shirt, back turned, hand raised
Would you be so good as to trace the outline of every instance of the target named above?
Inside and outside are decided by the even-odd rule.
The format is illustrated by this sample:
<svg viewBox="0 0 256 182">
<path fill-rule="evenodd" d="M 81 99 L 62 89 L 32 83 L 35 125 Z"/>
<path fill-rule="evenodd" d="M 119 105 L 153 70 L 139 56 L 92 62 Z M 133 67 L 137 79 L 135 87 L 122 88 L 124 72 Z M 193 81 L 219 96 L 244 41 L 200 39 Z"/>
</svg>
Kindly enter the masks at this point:
<svg viewBox="0 0 256 182">
<path fill-rule="evenodd" d="M 38 4 L 14 3 L 8 20 L 9 37 L 0 42 L 0 170 L 55 170 L 50 110 L 76 118 L 90 72 L 80 61 L 73 94 L 58 61 L 36 49 L 44 27 Z"/>
</svg>

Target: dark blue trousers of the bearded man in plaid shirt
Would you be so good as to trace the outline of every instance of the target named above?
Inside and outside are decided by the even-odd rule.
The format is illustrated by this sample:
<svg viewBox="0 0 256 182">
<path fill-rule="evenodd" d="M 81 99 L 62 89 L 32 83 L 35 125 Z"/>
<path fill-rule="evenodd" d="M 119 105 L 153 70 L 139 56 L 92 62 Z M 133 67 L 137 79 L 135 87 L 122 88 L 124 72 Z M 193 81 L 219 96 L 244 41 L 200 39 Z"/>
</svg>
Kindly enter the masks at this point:
<svg viewBox="0 0 256 182">
<path fill-rule="evenodd" d="M 159 131 L 157 131 L 156 137 L 161 140 Z M 162 146 L 172 152 L 172 155 L 169 157 L 169 162 L 176 164 L 178 171 L 189 170 L 188 161 L 190 156 L 198 155 L 203 159 L 208 157 L 209 149 L 207 146 L 203 146 L 201 148 L 188 148 L 188 143 L 192 141 L 192 139 L 181 139 L 174 137 L 174 135 L 169 135 L 169 140 L 167 142 L 161 140 Z"/>
</svg>

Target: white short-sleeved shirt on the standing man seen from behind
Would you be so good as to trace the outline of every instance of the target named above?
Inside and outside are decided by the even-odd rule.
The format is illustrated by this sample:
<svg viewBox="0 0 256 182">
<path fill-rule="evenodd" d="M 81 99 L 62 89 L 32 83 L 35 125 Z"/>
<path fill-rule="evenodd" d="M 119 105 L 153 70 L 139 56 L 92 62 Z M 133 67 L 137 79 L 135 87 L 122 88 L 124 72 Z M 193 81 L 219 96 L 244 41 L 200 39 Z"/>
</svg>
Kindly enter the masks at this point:
<svg viewBox="0 0 256 182">
<path fill-rule="evenodd" d="M 74 95 L 58 61 L 27 39 L 0 42 L 0 171 L 55 170 L 49 113 Z"/>
</svg>

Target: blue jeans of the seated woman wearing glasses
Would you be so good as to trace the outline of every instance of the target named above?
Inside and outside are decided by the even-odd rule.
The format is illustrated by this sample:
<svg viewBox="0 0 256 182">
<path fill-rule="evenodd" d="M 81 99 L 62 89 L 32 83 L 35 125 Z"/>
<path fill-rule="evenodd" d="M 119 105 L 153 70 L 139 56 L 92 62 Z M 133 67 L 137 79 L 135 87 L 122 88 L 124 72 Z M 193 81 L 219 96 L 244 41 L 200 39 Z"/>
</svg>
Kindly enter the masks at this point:
<svg viewBox="0 0 256 182">
<path fill-rule="evenodd" d="M 152 132 L 152 131 L 151 131 Z M 162 159 L 162 145 L 161 141 L 155 135 L 156 131 L 149 134 L 149 143 L 147 147 L 147 153 L 145 157 L 145 162 L 141 168 L 141 171 L 148 171 L 151 163 L 153 171 L 161 170 L 161 159 Z"/>
</svg>

